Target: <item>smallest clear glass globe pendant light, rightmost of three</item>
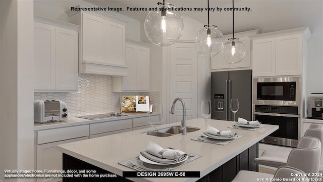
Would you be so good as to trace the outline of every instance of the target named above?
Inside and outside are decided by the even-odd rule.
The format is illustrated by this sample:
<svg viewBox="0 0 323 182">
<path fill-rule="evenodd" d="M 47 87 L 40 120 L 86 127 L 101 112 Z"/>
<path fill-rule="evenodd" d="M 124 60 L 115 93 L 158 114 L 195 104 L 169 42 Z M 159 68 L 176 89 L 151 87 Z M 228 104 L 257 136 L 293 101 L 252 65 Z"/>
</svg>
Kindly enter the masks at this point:
<svg viewBox="0 0 323 182">
<path fill-rule="evenodd" d="M 223 48 L 224 60 L 229 64 L 236 64 L 242 61 L 246 55 L 246 47 L 239 40 L 234 37 L 234 0 L 232 0 L 232 38 L 229 38 Z"/>
</svg>

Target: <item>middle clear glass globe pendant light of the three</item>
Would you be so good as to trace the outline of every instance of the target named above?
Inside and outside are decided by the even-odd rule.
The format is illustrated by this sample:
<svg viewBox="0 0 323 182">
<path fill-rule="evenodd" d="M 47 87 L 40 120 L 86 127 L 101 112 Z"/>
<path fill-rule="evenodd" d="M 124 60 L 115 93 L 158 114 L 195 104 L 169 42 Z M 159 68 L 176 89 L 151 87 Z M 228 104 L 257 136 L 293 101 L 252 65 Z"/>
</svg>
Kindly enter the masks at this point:
<svg viewBox="0 0 323 182">
<path fill-rule="evenodd" d="M 194 40 L 195 49 L 205 57 L 212 57 L 222 51 L 224 37 L 217 26 L 209 25 L 209 3 L 207 0 L 207 25 L 197 32 Z"/>
</svg>

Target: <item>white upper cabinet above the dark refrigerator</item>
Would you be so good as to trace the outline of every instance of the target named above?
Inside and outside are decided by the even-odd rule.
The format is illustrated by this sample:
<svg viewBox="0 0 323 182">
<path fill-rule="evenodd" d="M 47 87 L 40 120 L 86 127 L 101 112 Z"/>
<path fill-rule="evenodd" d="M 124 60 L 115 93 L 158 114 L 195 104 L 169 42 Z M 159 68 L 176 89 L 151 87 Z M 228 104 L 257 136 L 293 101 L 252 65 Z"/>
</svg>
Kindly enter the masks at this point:
<svg viewBox="0 0 323 182">
<path fill-rule="evenodd" d="M 218 55 L 211 57 L 211 71 L 223 71 L 223 70 L 241 70 L 250 69 L 250 38 L 249 36 L 260 33 L 259 29 L 250 30 L 246 32 L 235 33 L 235 37 L 239 37 L 246 47 L 246 55 L 241 62 L 237 64 L 229 64 L 224 61 L 224 53 L 220 52 Z M 232 38 L 232 34 L 225 35 L 225 42 L 228 38 Z"/>
</svg>

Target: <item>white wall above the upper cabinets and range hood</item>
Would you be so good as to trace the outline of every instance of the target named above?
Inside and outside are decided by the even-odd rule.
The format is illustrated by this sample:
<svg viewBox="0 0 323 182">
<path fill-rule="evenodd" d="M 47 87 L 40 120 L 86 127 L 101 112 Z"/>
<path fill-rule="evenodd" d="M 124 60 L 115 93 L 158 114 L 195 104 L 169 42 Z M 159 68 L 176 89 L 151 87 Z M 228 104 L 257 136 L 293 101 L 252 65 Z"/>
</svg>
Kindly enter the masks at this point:
<svg viewBox="0 0 323 182">
<path fill-rule="evenodd" d="M 96 7 L 93 4 L 90 4 L 81 0 L 74 1 L 35 1 L 34 2 L 34 14 L 44 16 L 51 19 L 57 19 L 60 21 L 69 22 L 69 17 L 65 13 L 70 10 L 71 7 L 77 5 L 83 5 L 86 7 Z M 104 12 L 104 11 L 103 11 Z M 126 38 L 140 41 L 140 22 L 138 20 L 126 17 L 119 13 L 115 12 L 104 12 L 106 14 L 118 17 L 122 20 L 129 22 L 126 25 Z"/>
</svg>

